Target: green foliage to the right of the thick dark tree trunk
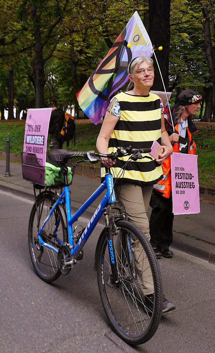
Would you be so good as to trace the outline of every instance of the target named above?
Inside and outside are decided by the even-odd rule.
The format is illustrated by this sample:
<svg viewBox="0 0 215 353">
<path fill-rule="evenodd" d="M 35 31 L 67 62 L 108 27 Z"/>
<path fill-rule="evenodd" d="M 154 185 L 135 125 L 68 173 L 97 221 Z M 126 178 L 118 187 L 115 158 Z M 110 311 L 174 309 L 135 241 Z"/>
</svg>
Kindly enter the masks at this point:
<svg viewBox="0 0 215 353">
<path fill-rule="evenodd" d="M 170 42 L 170 83 L 173 90 L 172 102 L 183 89 L 192 88 L 206 95 L 212 86 L 212 77 L 205 55 L 203 34 L 204 18 L 202 6 L 210 1 L 178 1 L 171 5 L 171 42 Z M 214 9 L 213 9 L 214 10 Z M 212 11 L 213 13 L 213 11 Z M 211 32 L 212 24 L 211 21 Z M 211 109 L 205 110 L 205 120 L 210 121 Z"/>
</svg>

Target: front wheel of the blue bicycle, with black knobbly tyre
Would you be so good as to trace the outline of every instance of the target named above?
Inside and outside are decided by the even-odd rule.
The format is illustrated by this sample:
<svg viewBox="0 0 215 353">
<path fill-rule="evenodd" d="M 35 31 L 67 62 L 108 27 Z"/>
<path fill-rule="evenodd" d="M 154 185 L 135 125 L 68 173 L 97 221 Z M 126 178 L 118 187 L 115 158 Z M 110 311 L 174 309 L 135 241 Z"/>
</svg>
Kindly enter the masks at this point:
<svg viewBox="0 0 215 353">
<path fill-rule="evenodd" d="M 162 312 L 162 283 L 152 247 L 133 223 L 116 221 L 118 235 L 113 236 L 119 284 L 111 278 L 110 257 L 105 231 L 97 251 L 97 277 L 106 315 L 121 339 L 141 344 L 154 335 Z M 132 254 L 132 255 L 129 255 Z M 132 261 L 131 261 L 132 258 Z M 149 270 L 150 269 L 150 270 Z M 154 293 L 154 305 L 146 295 Z M 151 306 L 153 309 L 151 309 Z"/>
</svg>

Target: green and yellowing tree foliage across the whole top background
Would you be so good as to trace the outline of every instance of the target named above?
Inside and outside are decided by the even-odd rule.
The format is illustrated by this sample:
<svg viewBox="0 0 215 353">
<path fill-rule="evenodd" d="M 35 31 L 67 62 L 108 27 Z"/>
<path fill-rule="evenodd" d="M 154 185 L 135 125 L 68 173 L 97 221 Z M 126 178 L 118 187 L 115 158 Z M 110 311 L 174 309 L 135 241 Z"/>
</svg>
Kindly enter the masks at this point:
<svg viewBox="0 0 215 353">
<path fill-rule="evenodd" d="M 166 3 L 161 0 L 159 6 L 165 8 Z M 0 0 L 0 4 L 0 109 L 8 108 L 8 76 L 13 68 L 17 116 L 21 109 L 50 103 L 78 108 L 76 93 L 135 10 L 149 29 L 148 0 Z M 171 103 L 186 88 L 198 90 L 205 98 L 215 91 L 203 34 L 203 24 L 209 21 L 214 48 L 213 11 L 211 0 L 171 1 Z M 158 18 L 155 26 L 161 29 L 164 20 Z M 166 49 L 162 55 L 167 55 Z M 165 75 L 162 69 L 161 65 Z"/>
</svg>

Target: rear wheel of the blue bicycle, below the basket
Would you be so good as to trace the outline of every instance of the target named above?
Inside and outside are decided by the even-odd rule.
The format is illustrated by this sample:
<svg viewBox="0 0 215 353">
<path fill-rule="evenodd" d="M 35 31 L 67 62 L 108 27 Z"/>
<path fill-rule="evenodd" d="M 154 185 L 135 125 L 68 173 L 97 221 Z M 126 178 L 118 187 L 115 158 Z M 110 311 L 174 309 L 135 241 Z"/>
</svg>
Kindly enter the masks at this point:
<svg viewBox="0 0 215 353">
<path fill-rule="evenodd" d="M 41 196 L 40 202 L 37 200 L 37 209 L 40 207 L 41 215 L 39 227 L 37 226 L 36 203 L 32 207 L 29 219 L 28 238 L 31 261 L 37 275 L 45 282 L 55 281 L 61 274 L 57 262 L 57 252 L 47 246 L 42 246 L 38 240 L 38 229 L 41 228 L 44 220 L 49 215 L 56 198 L 55 194 L 50 192 Z M 63 219 L 65 217 L 63 217 L 62 212 L 65 212 L 64 207 L 58 205 L 41 232 L 42 240 L 56 247 L 57 250 L 64 242 L 68 243 L 68 231 L 64 224 Z"/>
</svg>

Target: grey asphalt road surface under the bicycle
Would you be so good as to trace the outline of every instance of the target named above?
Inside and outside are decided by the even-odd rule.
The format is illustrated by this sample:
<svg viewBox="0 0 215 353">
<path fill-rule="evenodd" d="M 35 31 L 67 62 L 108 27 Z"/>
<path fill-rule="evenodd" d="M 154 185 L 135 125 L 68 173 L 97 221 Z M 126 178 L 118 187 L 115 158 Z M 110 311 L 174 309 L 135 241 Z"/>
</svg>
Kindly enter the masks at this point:
<svg viewBox="0 0 215 353">
<path fill-rule="evenodd" d="M 93 271 L 104 226 L 97 226 L 70 274 L 48 285 L 30 260 L 31 207 L 30 200 L 0 193 L 0 352 L 215 352 L 215 265 L 177 250 L 160 259 L 164 292 L 177 308 L 162 317 L 150 341 L 129 346 L 109 326 Z"/>
</svg>

